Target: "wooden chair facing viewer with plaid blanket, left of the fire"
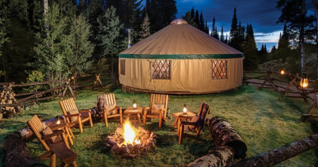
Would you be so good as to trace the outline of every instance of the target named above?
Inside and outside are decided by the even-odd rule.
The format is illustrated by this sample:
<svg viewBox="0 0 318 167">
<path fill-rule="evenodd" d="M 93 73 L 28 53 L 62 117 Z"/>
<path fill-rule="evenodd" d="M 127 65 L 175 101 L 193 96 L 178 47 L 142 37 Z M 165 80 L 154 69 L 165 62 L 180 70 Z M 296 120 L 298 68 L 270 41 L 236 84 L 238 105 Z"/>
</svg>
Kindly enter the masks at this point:
<svg viewBox="0 0 318 167">
<path fill-rule="evenodd" d="M 105 126 L 108 127 L 108 118 L 119 117 L 120 124 L 122 124 L 122 107 L 118 107 L 116 105 L 115 95 L 114 94 L 105 94 L 104 105 L 115 104 L 115 109 L 117 110 L 116 114 L 107 115 L 107 111 L 103 108 L 103 112 L 100 113 L 100 117 L 102 118 L 100 122 L 105 122 Z"/>
</svg>

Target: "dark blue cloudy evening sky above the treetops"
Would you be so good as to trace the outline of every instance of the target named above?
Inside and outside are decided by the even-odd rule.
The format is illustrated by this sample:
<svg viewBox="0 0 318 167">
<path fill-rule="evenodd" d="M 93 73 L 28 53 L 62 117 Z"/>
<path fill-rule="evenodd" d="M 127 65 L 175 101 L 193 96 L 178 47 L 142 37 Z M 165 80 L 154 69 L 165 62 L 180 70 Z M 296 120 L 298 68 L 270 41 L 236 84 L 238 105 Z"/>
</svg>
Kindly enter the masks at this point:
<svg viewBox="0 0 318 167">
<path fill-rule="evenodd" d="M 145 1 L 145 0 L 143 0 Z M 211 30 L 212 19 L 215 17 L 219 31 L 223 26 L 225 34 L 230 31 L 234 7 L 238 20 L 242 25 L 251 23 L 253 26 L 255 39 L 258 48 L 266 44 L 267 50 L 276 45 L 279 34 L 283 29 L 283 24 L 276 24 L 280 16 L 280 10 L 275 8 L 277 0 L 176 0 L 178 13 L 177 18 L 189 10 L 202 10 L 204 20 L 207 20 Z"/>
</svg>

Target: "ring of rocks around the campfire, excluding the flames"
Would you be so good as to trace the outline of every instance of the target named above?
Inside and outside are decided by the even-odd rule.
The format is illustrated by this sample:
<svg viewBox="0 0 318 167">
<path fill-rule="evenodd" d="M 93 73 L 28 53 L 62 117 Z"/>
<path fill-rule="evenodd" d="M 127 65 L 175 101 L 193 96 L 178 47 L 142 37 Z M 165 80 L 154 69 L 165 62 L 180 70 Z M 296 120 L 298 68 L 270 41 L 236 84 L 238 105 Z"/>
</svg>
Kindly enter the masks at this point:
<svg viewBox="0 0 318 167">
<path fill-rule="evenodd" d="M 147 151 L 153 149 L 156 145 L 156 134 L 145 130 L 141 127 L 138 129 L 132 127 L 135 131 L 136 139 L 140 143 L 124 143 L 124 129 L 117 128 L 114 133 L 110 133 L 105 137 L 105 145 L 116 155 L 121 155 L 126 159 L 134 159 L 138 155 L 145 154 Z"/>
</svg>

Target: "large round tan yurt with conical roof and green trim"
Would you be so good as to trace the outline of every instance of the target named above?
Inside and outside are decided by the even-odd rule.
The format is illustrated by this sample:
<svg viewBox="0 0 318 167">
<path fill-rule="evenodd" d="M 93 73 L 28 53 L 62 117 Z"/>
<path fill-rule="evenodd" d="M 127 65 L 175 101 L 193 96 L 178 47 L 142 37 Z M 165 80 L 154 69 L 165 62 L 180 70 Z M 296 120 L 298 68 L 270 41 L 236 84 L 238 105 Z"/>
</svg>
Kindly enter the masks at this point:
<svg viewBox="0 0 318 167">
<path fill-rule="evenodd" d="M 119 53 L 124 88 L 164 94 L 209 94 L 242 85 L 243 53 L 185 20 Z"/>
</svg>

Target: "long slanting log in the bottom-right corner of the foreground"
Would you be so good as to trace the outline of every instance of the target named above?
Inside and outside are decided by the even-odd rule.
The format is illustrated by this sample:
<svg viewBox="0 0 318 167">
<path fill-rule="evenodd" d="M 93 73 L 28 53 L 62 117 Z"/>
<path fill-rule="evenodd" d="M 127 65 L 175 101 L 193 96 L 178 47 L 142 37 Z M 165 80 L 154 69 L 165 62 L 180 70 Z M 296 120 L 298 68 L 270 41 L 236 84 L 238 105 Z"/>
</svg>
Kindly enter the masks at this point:
<svg viewBox="0 0 318 167">
<path fill-rule="evenodd" d="M 294 143 L 287 144 L 280 148 L 261 153 L 254 157 L 243 159 L 237 163 L 231 164 L 228 167 L 267 167 L 281 163 L 287 159 L 295 157 L 305 151 L 318 146 L 318 134 L 303 138 Z"/>
</svg>

